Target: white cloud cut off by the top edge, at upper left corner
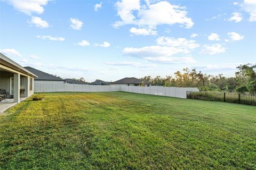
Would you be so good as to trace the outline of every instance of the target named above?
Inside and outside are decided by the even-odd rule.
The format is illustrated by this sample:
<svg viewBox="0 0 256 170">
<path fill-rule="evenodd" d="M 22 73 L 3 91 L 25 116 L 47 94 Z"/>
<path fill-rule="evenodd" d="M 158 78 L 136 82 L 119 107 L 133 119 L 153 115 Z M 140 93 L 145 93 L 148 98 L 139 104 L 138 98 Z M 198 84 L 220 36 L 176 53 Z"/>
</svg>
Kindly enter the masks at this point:
<svg viewBox="0 0 256 170">
<path fill-rule="evenodd" d="M 16 10 L 31 15 L 32 13 L 42 14 L 49 0 L 7 0 Z"/>
</svg>

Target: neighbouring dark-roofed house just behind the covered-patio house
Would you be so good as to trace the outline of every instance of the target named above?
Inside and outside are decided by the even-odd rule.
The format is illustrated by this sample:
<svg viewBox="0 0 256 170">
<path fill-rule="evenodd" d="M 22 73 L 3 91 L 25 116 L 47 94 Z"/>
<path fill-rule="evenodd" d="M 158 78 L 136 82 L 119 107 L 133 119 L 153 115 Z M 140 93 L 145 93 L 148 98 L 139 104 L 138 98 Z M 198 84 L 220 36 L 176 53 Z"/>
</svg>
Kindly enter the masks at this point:
<svg viewBox="0 0 256 170">
<path fill-rule="evenodd" d="M 35 84 L 36 83 L 64 83 L 65 80 L 56 77 L 54 75 L 45 73 L 43 71 L 34 69 L 33 67 L 24 67 L 28 71 L 30 71 L 33 74 L 36 74 L 38 78 L 35 78 Z"/>
</svg>

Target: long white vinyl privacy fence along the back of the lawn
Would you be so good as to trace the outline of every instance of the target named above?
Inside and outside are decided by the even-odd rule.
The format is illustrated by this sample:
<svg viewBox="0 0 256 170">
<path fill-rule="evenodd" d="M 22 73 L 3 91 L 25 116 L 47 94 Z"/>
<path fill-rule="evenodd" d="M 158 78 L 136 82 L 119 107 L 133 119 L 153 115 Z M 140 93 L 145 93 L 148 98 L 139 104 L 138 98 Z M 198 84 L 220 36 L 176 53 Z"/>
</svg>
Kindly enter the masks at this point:
<svg viewBox="0 0 256 170">
<path fill-rule="evenodd" d="M 159 95 L 178 98 L 187 98 L 187 91 L 199 91 L 197 88 L 179 87 L 140 87 L 140 86 L 95 86 L 67 83 L 35 83 L 34 92 L 103 92 L 126 91 L 137 94 Z"/>
</svg>

